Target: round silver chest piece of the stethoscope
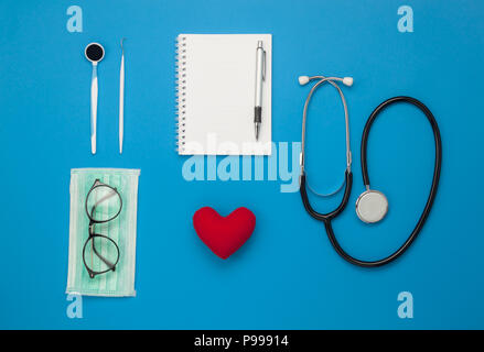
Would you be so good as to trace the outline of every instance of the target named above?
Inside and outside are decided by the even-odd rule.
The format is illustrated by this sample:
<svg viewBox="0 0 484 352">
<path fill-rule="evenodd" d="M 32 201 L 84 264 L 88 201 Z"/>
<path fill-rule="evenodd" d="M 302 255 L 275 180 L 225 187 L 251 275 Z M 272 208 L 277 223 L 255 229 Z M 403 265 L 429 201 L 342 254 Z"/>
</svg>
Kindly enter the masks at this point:
<svg viewBox="0 0 484 352">
<path fill-rule="evenodd" d="M 388 211 L 388 200 L 378 190 L 365 190 L 356 200 L 356 215 L 366 223 L 380 221 Z"/>
</svg>

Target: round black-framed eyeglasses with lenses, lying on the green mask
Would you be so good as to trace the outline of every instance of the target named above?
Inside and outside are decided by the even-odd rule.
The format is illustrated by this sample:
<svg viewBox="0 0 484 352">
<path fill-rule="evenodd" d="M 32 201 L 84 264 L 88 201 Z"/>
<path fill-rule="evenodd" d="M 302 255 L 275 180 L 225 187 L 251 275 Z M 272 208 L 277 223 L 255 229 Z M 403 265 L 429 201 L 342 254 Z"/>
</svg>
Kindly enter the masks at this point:
<svg viewBox="0 0 484 352">
<path fill-rule="evenodd" d="M 86 196 L 89 237 L 83 248 L 84 266 L 90 278 L 116 270 L 119 261 L 118 244 L 107 235 L 96 233 L 96 224 L 116 219 L 121 209 L 122 199 L 118 190 L 96 179 Z"/>
</svg>

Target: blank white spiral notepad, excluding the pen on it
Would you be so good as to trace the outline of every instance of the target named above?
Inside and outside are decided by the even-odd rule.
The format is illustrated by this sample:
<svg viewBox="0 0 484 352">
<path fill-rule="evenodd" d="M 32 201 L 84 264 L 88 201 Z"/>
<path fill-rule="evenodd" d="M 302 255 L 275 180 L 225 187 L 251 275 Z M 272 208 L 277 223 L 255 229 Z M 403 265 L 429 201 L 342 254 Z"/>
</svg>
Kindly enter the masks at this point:
<svg viewBox="0 0 484 352">
<path fill-rule="evenodd" d="M 258 41 L 266 51 L 266 80 L 262 124 L 256 141 Z M 176 42 L 179 154 L 270 155 L 271 35 L 180 34 Z"/>
</svg>

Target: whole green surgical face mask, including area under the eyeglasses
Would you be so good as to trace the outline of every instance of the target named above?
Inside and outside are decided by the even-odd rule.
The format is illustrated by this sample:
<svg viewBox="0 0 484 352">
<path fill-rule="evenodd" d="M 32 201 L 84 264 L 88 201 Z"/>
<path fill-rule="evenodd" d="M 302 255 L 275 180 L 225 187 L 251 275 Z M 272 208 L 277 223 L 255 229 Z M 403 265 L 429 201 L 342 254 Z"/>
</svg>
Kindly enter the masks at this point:
<svg viewBox="0 0 484 352">
<path fill-rule="evenodd" d="M 139 169 L 71 170 L 67 294 L 135 296 Z"/>
</svg>

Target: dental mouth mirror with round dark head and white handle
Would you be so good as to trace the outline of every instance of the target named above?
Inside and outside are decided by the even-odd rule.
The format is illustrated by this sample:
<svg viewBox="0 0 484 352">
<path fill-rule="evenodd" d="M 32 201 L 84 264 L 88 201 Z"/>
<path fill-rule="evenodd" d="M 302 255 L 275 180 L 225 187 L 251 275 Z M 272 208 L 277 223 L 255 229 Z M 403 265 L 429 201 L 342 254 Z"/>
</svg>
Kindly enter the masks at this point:
<svg viewBox="0 0 484 352">
<path fill-rule="evenodd" d="M 104 58 L 105 50 L 99 43 L 87 44 L 84 54 L 93 64 L 90 81 L 90 152 L 96 154 L 96 124 L 97 124 L 97 64 Z"/>
</svg>

